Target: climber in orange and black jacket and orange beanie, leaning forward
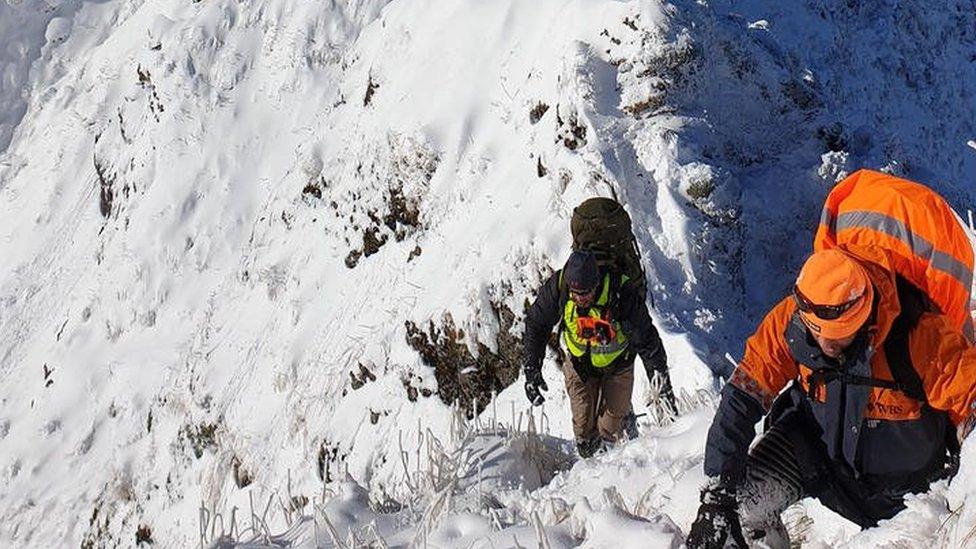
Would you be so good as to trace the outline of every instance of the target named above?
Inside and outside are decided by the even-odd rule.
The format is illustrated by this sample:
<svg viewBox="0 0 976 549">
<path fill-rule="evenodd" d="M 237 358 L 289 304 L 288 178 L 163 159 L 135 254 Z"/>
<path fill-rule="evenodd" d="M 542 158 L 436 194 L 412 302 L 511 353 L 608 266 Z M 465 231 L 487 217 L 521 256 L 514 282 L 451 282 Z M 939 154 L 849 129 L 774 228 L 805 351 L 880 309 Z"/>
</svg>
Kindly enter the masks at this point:
<svg viewBox="0 0 976 549">
<path fill-rule="evenodd" d="M 722 391 L 689 549 L 788 547 L 780 513 L 807 496 L 873 526 L 954 474 L 974 424 L 976 350 L 896 272 L 877 246 L 807 259 Z"/>
</svg>

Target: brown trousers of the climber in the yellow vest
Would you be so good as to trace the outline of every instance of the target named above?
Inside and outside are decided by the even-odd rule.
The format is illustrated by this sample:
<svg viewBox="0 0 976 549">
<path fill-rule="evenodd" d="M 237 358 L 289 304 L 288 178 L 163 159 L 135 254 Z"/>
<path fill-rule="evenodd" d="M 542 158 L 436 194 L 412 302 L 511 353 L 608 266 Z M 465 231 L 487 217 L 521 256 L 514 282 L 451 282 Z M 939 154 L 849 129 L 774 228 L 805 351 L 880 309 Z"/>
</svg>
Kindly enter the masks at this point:
<svg viewBox="0 0 976 549">
<path fill-rule="evenodd" d="M 573 435 L 577 441 L 597 437 L 615 442 L 623 435 L 623 419 L 631 413 L 634 366 L 612 374 L 580 378 L 569 360 L 563 362 L 566 393 L 573 412 Z"/>
</svg>

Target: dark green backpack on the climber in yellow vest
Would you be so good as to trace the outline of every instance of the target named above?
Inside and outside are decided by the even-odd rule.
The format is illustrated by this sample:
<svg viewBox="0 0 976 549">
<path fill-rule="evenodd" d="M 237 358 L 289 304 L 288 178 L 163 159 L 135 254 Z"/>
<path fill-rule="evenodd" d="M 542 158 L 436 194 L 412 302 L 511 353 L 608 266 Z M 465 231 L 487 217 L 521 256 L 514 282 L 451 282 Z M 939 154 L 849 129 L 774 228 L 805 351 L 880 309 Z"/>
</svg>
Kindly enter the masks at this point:
<svg viewBox="0 0 976 549">
<path fill-rule="evenodd" d="M 646 278 L 641 266 L 640 250 L 624 207 L 612 198 L 589 198 L 573 210 L 569 222 L 573 234 L 573 250 L 586 250 L 596 256 L 601 269 L 614 275 L 626 275 L 646 296 Z"/>
</svg>

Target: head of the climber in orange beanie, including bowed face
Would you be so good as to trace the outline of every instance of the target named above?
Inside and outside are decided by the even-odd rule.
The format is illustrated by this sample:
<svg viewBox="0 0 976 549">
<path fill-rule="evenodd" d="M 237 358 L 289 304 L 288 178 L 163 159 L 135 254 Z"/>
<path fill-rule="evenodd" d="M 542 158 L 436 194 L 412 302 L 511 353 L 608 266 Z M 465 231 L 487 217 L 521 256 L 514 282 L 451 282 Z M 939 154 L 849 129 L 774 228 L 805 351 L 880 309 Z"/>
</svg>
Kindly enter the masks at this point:
<svg viewBox="0 0 976 549">
<path fill-rule="evenodd" d="M 860 263 L 840 250 L 807 258 L 793 286 L 800 318 L 825 355 L 840 357 L 867 322 L 874 287 Z"/>
</svg>

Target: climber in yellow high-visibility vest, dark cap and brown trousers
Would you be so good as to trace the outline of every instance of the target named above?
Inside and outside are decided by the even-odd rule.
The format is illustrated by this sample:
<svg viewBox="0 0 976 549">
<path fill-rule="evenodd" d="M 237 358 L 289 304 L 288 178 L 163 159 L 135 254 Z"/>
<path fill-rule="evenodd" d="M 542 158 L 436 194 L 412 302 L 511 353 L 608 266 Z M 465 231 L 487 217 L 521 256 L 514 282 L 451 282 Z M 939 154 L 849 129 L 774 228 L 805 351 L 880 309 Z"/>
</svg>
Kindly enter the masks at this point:
<svg viewBox="0 0 976 549">
<path fill-rule="evenodd" d="M 563 269 L 542 286 L 525 318 L 525 394 L 545 400 L 542 362 L 552 328 L 559 324 L 563 375 L 580 457 L 631 431 L 634 359 L 639 356 L 652 387 L 675 409 L 667 354 L 643 293 L 626 275 L 601 270 L 596 257 L 574 251 Z M 631 433 L 636 434 L 634 431 Z M 631 435 L 633 436 L 633 435 Z"/>
</svg>

